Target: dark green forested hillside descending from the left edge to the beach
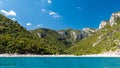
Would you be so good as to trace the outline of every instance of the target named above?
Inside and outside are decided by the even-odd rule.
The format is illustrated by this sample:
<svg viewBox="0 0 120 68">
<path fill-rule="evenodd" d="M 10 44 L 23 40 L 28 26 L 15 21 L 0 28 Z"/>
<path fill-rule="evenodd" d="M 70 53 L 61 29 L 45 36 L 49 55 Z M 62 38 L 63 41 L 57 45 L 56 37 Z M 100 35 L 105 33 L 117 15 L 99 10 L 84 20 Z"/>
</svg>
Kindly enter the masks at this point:
<svg viewBox="0 0 120 68">
<path fill-rule="evenodd" d="M 59 50 L 51 46 L 48 40 L 38 38 L 0 14 L 0 53 L 18 54 L 56 54 Z"/>
</svg>

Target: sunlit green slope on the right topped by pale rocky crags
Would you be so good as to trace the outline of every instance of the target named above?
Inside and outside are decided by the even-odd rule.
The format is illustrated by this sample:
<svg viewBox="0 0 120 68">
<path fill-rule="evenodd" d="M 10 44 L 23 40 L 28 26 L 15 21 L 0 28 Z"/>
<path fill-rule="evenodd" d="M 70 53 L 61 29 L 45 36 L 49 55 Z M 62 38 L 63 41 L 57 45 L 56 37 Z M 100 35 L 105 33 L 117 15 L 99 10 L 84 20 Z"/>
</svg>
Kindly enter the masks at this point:
<svg viewBox="0 0 120 68">
<path fill-rule="evenodd" d="M 120 49 L 120 12 L 113 13 L 110 20 L 102 21 L 102 24 L 97 32 L 76 43 L 66 52 L 83 55 Z"/>
</svg>

